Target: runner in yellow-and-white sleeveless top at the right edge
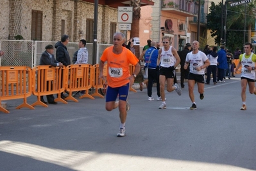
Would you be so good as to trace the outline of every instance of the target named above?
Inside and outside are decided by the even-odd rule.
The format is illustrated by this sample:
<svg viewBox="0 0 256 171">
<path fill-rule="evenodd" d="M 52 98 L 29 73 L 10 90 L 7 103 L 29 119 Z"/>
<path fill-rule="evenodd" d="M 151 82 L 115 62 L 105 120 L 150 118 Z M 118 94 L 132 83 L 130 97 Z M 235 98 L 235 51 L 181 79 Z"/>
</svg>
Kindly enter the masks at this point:
<svg viewBox="0 0 256 171">
<path fill-rule="evenodd" d="M 255 90 L 255 62 L 256 62 L 256 54 L 252 53 L 252 44 L 246 43 L 244 45 L 244 54 L 240 54 L 238 66 L 235 68 L 235 72 L 241 67 L 241 97 L 242 97 L 242 107 L 240 110 L 246 110 L 246 86 L 249 85 L 250 94 L 256 95 Z"/>
</svg>

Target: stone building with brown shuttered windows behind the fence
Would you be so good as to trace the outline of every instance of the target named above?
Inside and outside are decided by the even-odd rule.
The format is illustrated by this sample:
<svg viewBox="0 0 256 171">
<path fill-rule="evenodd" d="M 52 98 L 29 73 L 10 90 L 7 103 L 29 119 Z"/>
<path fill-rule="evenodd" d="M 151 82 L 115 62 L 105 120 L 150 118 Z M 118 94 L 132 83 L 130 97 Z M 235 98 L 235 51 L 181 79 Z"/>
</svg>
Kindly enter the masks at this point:
<svg viewBox="0 0 256 171">
<path fill-rule="evenodd" d="M 117 6 L 129 4 L 127 0 L 99 1 L 98 43 L 112 43 L 118 31 Z M 71 42 L 93 41 L 94 0 L 1 0 L 0 15 L 2 40 L 21 35 L 24 40 L 57 41 L 65 33 Z"/>
</svg>

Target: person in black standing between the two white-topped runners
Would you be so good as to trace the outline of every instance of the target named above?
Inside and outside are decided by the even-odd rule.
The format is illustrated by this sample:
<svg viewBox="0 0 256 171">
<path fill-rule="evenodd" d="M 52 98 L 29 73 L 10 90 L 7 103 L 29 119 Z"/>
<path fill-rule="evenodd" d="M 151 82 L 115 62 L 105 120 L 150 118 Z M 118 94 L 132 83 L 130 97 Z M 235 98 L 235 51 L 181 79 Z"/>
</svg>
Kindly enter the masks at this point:
<svg viewBox="0 0 256 171">
<path fill-rule="evenodd" d="M 187 43 L 182 51 L 178 51 L 178 56 L 180 56 L 180 85 L 182 86 L 182 88 L 184 88 L 185 86 L 184 79 L 187 79 L 187 77 L 189 76 L 189 67 L 187 67 L 187 69 L 185 70 L 184 65 L 187 54 L 191 52 L 190 50 L 191 44 Z"/>
</svg>

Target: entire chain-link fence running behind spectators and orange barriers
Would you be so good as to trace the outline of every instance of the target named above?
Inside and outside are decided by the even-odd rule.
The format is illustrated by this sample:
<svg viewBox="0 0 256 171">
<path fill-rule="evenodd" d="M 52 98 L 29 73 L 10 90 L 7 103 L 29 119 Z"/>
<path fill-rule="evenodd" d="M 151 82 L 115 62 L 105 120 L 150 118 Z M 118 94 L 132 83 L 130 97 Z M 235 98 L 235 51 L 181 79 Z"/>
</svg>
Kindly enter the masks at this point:
<svg viewBox="0 0 256 171">
<path fill-rule="evenodd" d="M 0 58 L 0 66 L 28 66 L 35 67 L 39 65 L 40 57 L 44 51 L 46 51 L 46 45 L 51 44 L 55 45 L 56 42 L 51 41 L 32 41 L 32 40 L 1 40 L 0 50 L 4 51 L 4 56 Z M 99 58 L 103 54 L 103 51 L 110 47 L 112 44 L 97 44 L 97 54 L 96 54 L 96 63 L 99 63 Z M 86 44 L 89 57 L 88 63 L 92 63 L 92 53 L 93 53 L 93 44 Z M 140 47 L 140 54 L 142 53 L 142 48 Z M 69 42 L 67 44 L 67 51 L 71 58 L 71 64 L 74 53 L 78 50 L 78 42 Z M 54 49 L 53 54 L 56 58 L 56 49 Z"/>
</svg>

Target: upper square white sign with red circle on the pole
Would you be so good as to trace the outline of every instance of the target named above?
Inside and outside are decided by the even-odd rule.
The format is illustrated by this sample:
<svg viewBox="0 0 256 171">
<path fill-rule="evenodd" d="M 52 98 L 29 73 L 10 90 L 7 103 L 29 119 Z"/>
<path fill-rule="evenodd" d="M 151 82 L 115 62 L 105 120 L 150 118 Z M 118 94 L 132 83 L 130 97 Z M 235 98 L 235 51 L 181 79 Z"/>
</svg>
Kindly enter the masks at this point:
<svg viewBox="0 0 256 171">
<path fill-rule="evenodd" d="M 118 19 L 119 23 L 132 23 L 132 7 L 118 6 Z"/>
</svg>

